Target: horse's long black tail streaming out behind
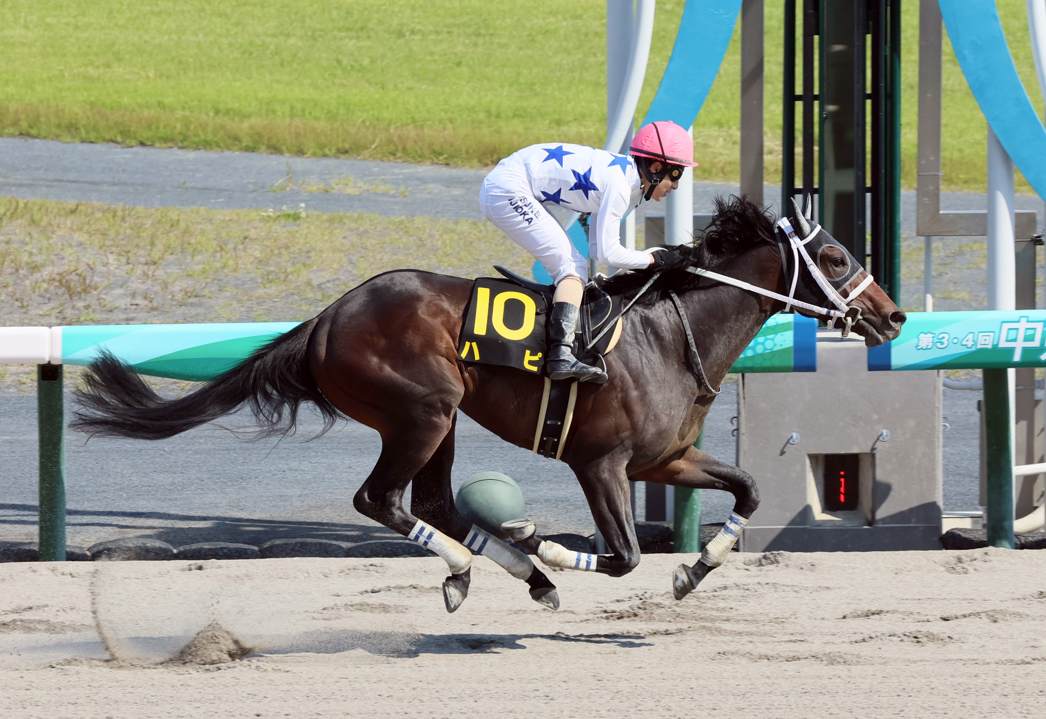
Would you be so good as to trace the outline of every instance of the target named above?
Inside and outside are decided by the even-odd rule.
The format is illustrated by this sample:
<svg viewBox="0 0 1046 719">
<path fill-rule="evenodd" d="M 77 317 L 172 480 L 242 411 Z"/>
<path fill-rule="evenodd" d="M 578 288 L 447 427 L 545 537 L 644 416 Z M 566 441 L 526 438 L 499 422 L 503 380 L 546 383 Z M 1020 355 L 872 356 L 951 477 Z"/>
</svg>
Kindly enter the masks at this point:
<svg viewBox="0 0 1046 719">
<path fill-rule="evenodd" d="M 280 335 L 175 400 L 163 399 L 133 367 L 103 353 L 84 375 L 86 388 L 76 391 L 83 408 L 70 426 L 92 435 L 165 440 L 247 405 L 259 426 L 253 439 L 264 439 L 293 433 L 301 404 L 312 402 L 323 418 L 322 434 L 340 414 L 309 368 L 309 337 L 317 320 Z"/>
</svg>

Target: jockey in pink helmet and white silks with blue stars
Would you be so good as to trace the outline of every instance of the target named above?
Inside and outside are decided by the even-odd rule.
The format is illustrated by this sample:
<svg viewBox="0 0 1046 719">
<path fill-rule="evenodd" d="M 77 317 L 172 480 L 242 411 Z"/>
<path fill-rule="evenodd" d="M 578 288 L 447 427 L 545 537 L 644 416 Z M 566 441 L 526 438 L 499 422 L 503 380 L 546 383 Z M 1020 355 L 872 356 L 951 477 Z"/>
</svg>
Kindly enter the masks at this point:
<svg viewBox="0 0 1046 719">
<path fill-rule="evenodd" d="M 636 133 L 629 154 L 631 157 L 583 144 L 532 144 L 501 160 L 480 187 L 483 216 L 539 260 L 555 284 L 545 362 L 553 380 L 601 382 L 607 375 L 578 362 L 573 355 L 588 263 L 542 204 L 592 214 L 589 254 L 600 264 L 637 270 L 682 263 L 678 252 L 622 247 L 620 225 L 643 200 L 660 202 L 675 189 L 683 167 L 697 166 L 693 141 L 675 122 L 659 120 Z"/>
</svg>

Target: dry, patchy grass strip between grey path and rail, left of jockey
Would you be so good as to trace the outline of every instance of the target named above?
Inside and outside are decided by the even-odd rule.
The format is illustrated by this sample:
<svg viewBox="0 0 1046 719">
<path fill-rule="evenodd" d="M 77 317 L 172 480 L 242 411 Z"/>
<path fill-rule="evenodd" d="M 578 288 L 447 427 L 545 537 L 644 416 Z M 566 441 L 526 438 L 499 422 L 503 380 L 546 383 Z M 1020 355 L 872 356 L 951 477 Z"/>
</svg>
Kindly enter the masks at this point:
<svg viewBox="0 0 1046 719">
<path fill-rule="evenodd" d="M 471 220 L 0 198 L 8 325 L 306 319 L 387 270 L 476 277 L 532 262 Z"/>
</svg>

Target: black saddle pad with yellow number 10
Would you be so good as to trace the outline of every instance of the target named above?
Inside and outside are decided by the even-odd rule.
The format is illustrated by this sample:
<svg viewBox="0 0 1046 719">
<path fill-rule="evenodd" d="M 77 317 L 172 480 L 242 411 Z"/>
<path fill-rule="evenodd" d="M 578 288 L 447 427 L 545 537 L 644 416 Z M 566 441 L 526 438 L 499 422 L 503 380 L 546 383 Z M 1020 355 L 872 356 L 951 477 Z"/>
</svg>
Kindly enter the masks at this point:
<svg viewBox="0 0 1046 719">
<path fill-rule="evenodd" d="M 544 366 L 544 298 L 515 283 L 480 277 L 472 288 L 458 357 L 540 375 Z"/>
</svg>

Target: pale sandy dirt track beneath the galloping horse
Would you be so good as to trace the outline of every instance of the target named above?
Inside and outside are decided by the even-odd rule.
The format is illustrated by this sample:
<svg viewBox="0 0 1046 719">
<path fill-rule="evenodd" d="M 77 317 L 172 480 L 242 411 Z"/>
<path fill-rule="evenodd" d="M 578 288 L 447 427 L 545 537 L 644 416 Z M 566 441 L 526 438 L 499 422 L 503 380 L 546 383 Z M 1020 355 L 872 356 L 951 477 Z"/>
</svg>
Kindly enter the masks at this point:
<svg viewBox="0 0 1046 719">
<path fill-rule="evenodd" d="M 1042 715 L 1046 552 L 734 554 L 676 602 L 681 558 L 555 613 L 477 558 L 451 615 L 439 559 L 4 564 L 0 716 Z M 212 623 L 254 652 L 161 664 Z"/>
</svg>

